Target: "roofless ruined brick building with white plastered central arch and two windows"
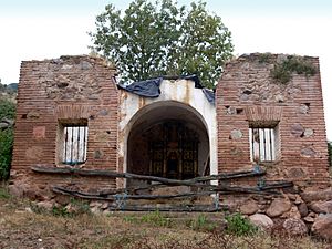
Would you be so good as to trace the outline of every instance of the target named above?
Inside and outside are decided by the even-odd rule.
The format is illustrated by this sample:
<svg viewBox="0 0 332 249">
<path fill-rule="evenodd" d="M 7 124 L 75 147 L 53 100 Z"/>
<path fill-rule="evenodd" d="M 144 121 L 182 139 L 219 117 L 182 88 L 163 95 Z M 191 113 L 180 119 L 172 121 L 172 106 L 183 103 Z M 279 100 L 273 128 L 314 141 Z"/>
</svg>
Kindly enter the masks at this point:
<svg viewBox="0 0 332 249">
<path fill-rule="evenodd" d="M 329 174 L 319 60 L 297 58 L 307 66 L 301 71 L 292 68 L 293 59 L 249 54 L 230 61 L 215 102 L 196 77 L 154 82 L 159 94 L 151 97 L 118 87 L 115 68 L 102 59 L 24 61 L 12 188 L 38 199 L 53 198 L 52 186 L 96 193 L 149 184 L 43 174 L 33 172 L 35 166 L 188 179 L 257 165 L 267 170 L 266 181 L 324 188 Z M 289 79 L 278 74 L 282 65 L 292 70 Z"/>
</svg>

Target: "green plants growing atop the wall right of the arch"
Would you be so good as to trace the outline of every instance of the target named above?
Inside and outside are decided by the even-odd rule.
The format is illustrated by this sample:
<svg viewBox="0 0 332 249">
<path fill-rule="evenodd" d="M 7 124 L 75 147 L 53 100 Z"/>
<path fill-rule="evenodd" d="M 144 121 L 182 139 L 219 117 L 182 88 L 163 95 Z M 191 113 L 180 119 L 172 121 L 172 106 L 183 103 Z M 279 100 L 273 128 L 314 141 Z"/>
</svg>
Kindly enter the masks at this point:
<svg viewBox="0 0 332 249">
<path fill-rule="evenodd" d="M 281 63 L 274 64 L 274 68 L 271 70 L 271 77 L 277 83 L 287 84 L 291 81 L 293 73 L 304 74 L 309 77 L 317 73 L 317 69 L 303 58 L 289 55 Z"/>
</svg>

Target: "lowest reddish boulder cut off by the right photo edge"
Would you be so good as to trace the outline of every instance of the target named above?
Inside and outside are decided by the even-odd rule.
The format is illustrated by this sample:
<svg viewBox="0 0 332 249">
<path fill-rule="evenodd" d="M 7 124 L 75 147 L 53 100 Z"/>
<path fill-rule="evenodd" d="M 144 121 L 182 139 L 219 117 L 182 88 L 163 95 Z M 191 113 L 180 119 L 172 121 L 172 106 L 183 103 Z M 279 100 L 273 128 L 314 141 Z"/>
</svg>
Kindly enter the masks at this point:
<svg viewBox="0 0 332 249">
<path fill-rule="evenodd" d="M 332 215 L 320 215 L 314 220 L 311 231 L 322 239 L 332 241 Z"/>
</svg>

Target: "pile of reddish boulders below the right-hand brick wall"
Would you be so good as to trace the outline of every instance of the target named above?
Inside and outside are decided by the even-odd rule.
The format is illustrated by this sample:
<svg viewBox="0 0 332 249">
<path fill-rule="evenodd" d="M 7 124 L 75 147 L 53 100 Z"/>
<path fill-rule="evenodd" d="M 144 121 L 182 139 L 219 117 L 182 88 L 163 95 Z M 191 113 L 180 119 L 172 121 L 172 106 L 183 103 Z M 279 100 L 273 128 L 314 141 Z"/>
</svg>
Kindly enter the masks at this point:
<svg viewBox="0 0 332 249">
<path fill-rule="evenodd" d="M 332 241 L 332 188 L 286 194 L 272 199 L 269 196 L 250 197 L 239 205 L 238 210 L 267 231 L 281 220 L 289 235 L 312 234 Z"/>
</svg>

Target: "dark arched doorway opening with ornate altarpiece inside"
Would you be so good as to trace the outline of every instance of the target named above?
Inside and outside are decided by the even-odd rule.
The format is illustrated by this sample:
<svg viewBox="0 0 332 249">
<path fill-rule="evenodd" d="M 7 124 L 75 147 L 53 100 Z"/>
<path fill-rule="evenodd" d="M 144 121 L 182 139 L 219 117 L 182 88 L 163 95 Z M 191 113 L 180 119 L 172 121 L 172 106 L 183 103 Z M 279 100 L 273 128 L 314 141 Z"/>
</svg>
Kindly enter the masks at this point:
<svg viewBox="0 0 332 249">
<path fill-rule="evenodd" d="M 189 105 L 155 103 L 135 115 L 127 138 L 127 172 L 188 179 L 209 174 L 209 138 L 203 117 Z M 141 181 L 128 180 L 128 185 Z"/>
</svg>

